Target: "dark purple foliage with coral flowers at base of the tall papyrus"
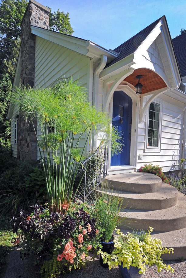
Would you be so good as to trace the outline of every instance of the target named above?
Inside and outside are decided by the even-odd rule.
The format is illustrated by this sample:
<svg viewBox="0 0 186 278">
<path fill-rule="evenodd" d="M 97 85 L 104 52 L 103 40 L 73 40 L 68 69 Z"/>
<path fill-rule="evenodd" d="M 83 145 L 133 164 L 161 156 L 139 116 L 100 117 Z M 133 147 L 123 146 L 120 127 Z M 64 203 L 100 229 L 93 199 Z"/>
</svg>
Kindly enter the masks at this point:
<svg viewBox="0 0 186 278">
<path fill-rule="evenodd" d="M 32 213 L 21 211 L 14 217 L 14 232 L 21 232 L 22 258 L 33 253 L 41 266 L 42 277 L 80 268 L 89 250 L 99 246 L 93 208 L 72 203 L 64 214 L 49 213 L 42 206 L 32 206 Z M 18 240 L 18 243 L 19 243 Z"/>
</svg>

